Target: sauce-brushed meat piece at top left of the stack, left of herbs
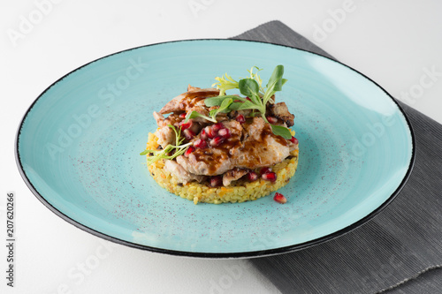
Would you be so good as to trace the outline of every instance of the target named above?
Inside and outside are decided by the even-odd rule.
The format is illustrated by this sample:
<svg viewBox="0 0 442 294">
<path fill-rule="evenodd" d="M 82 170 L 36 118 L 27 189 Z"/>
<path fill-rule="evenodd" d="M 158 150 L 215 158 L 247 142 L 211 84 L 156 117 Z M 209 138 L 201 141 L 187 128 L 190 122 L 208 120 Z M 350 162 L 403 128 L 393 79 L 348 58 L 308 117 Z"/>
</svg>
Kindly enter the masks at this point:
<svg viewBox="0 0 442 294">
<path fill-rule="evenodd" d="M 207 109 L 204 108 L 204 99 L 219 95 L 219 90 L 214 88 L 200 89 L 191 86 L 189 88 L 191 89 L 190 91 L 179 94 L 177 97 L 173 98 L 170 102 L 164 105 L 159 113 L 188 112 L 189 110 L 198 111 L 198 107 L 200 110 L 204 109 L 207 111 Z"/>
</svg>

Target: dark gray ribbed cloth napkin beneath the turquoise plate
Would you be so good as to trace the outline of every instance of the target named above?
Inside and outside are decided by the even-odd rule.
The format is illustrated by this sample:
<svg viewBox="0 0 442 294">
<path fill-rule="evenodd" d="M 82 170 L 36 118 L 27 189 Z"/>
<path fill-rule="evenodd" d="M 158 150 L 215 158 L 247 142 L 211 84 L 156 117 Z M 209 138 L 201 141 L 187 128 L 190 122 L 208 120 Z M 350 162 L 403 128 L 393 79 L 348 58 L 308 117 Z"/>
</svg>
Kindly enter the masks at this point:
<svg viewBox="0 0 442 294">
<path fill-rule="evenodd" d="M 233 39 L 331 57 L 279 21 Z M 442 293 L 442 125 L 400 102 L 415 131 L 415 168 L 392 204 L 344 236 L 252 259 L 283 293 Z"/>
</svg>

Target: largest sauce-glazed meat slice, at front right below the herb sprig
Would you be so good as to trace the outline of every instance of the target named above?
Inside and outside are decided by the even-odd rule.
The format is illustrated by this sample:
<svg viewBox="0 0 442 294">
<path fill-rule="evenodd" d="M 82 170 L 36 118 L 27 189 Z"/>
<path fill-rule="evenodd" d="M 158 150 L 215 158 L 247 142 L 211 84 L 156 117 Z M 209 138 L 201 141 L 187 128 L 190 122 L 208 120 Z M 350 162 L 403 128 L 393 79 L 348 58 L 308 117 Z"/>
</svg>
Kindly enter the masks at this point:
<svg viewBox="0 0 442 294">
<path fill-rule="evenodd" d="M 257 169 L 282 162 L 289 155 L 286 139 L 271 132 L 270 124 L 254 117 L 245 124 L 236 120 L 223 122 L 231 137 L 217 147 L 196 148 L 177 162 L 195 175 L 215 176 L 234 168 Z"/>
</svg>

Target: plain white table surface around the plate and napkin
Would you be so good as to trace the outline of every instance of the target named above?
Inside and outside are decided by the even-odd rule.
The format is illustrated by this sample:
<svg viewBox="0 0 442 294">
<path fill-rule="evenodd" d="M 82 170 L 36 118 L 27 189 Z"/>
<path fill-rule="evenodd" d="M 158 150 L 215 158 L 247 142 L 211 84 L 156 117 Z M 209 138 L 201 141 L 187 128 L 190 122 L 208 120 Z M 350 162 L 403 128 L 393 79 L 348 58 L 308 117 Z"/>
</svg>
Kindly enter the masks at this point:
<svg viewBox="0 0 442 294">
<path fill-rule="evenodd" d="M 1 1 L 0 236 L 5 243 L 6 192 L 13 191 L 17 243 L 14 289 L 6 286 L 0 246 L 0 292 L 278 293 L 247 260 L 149 253 L 54 215 L 19 176 L 20 119 L 51 83 L 98 57 L 155 42 L 228 38 L 277 19 L 442 123 L 441 11 L 438 0 Z"/>
</svg>

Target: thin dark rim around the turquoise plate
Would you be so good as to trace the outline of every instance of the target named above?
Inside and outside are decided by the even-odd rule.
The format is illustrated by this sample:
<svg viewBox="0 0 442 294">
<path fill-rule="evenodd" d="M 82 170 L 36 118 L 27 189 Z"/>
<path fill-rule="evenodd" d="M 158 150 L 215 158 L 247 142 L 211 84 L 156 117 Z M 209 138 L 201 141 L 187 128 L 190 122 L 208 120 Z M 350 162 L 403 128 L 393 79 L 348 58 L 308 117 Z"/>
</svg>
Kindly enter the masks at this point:
<svg viewBox="0 0 442 294">
<path fill-rule="evenodd" d="M 162 45 L 162 44 L 169 44 L 169 43 L 179 43 L 179 42 L 189 42 L 189 41 L 226 41 L 226 42 L 249 42 L 249 43 L 259 43 L 259 44 L 265 44 L 265 45 L 272 45 L 272 46 L 277 46 L 277 47 L 285 47 L 288 49 L 296 49 L 296 50 L 300 50 L 303 52 L 307 52 L 309 54 L 313 54 L 317 57 L 323 57 L 326 58 L 328 60 L 330 60 L 331 62 L 340 64 L 342 66 L 345 66 L 347 69 L 355 72 L 356 74 L 359 74 L 362 76 L 362 78 L 364 79 L 368 79 L 371 83 L 373 83 L 376 87 L 378 87 L 380 90 L 382 90 L 388 99 L 390 99 L 400 110 L 400 113 L 402 114 L 402 116 L 405 118 L 405 121 L 407 123 L 408 126 L 408 130 L 410 132 L 410 137 L 411 137 L 411 158 L 410 158 L 410 162 L 408 163 L 408 170 L 407 173 L 405 174 L 405 176 L 402 178 L 400 185 L 398 185 L 398 187 L 396 188 L 396 190 L 394 192 L 392 192 L 392 195 L 390 195 L 388 197 L 388 199 L 386 199 L 381 205 L 379 205 L 376 209 L 374 209 L 373 211 L 370 212 L 370 214 L 365 215 L 364 217 L 362 217 L 362 219 L 358 220 L 357 222 L 353 222 L 350 225 L 347 225 L 347 227 L 342 228 L 340 230 L 334 231 L 328 235 L 325 235 L 323 237 L 317 237 L 316 239 L 313 240 L 309 240 L 307 242 L 303 242 L 300 244 L 296 244 L 296 245 L 287 245 L 287 246 L 282 246 L 282 247 L 278 247 L 278 248 L 272 248 L 272 249 L 263 249 L 263 250 L 259 250 L 259 251 L 250 251 L 250 252 L 236 252 L 236 253 L 199 253 L 199 252 L 187 252 L 187 251 L 178 251 L 178 250 L 171 250 L 171 249 L 164 249 L 164 248 L 158 248 L 158 247 L 154 247 L 154 246 L 149 246 L 149 245 L 141 245 L 141 244 L 137 244 L 134 242 L 129 242 L 126 240 L 123 240 L 121 238 L 118 237 L 112 237 L 108 234 L 105 234 L 101 231 L 98 230 L 94 230 L 92 228 L 89 228 L 87 225 L 77 222 L 75 220 L 73 220 L 70 216 L 65 215 L 65 213 L 61 212 L 60 210 L 58 210 L 56 207 L 52 206 L 50 204 L 50 202 L 48 200 L 46 200 L 42 194 L 40 192 L 37 191 L 37 189 L 34 187 L 34 185 L 32 184 L 32 182 L 29 180 L 29 178 L 26 175 L 26 172 L 23 168 L 22 162 L 20 161 L 20 155 L 19 155 L 19 137 L 20 137 L 20 133 L 21 130 L 24 126 L 24 122 L 28 116 L 28 114 L 31 112 L 31 110 L 34 108 L 34 105 L 36 102 L 38 102 L 42 96 L 51 88 L 54 87 L 57 83 L 59 83 L 60 81 L 62 81 L 63 79 L 65 79 L 66 77 L 68 77 L 69 75 L 71 75 L 73 72 L 77 72 L 80 69 L 88 66 L 89 64 L 93 64 L 99 60 L 102 60 L 104 58 L 107 57 L 111 57 L 123 52 L 128 52 L 134 49 L 141 49 L 141 48 L 147 48 L 147 47 L 152 47 L 152 46 L 156 46 L 156 45 Z M 71 223 L 73 226 L 77 227 L 80 230 L 84 230 L 92 235 L 95 235 L 96 237 L 102 237 L 105 240 L 117 243 L 119 245 L 126 245 L 128 247 L 132 247 L 132 248 L 136 248 L 136 249 L 141 249 L 141 250 L 145 250 L 145 251 L 149 251 L 149 252 L 153 252 L 153 253 L 164 253 L 164 254 L 169 254 L 169 255 L 175 255 L 175 256 L 181 256 L 181 257 L 191 257 L 191 258 L 206 258 L 206 259 L 240 259 L 240 258 L 258 258 L 258 257 L 265 257 L 265 256 L 271 256 L 271 255 L 277 255 L 277 254 L 282 254 L 282 253 L 292 253 L 295 251 L 300 251 L 306 248 L 309 248 L 311 246 L 315 246 L 315 245 L 319 245 L 322 243 L 325 243 L 327 241 L 330 241 L 331 239 L 334 239 L 336 237 L 342 237 L 344 235 L 346 235 L 347 233 L 349 233 L 350 231 L 362 226 L 362 224 L 365 224 L 366 222 L 369 222 L 370 220 L 372 220 L 375 216 L 377 216 L 380 212 L 382 212 L 385 207 L 388 207 L 392 201 L 394 199 L 396 199 L 396 197 L 398 196 L 398 194 L 400 193 L 400 191 L 403 189 L 403 187 L 406 185 L 406 183 L 408 182 L 408 178 L 410 177 L 412 170 L 414 169 L 415 166 L 415 132 L 413 130 L 413 125 L 411 124 L 408 115 L 405 113 L 405 111 L 402 109 L 402 107 L 400 106 L 400 104 L 392 97 L 391 94 L 389 94 L 384 87 L 381 87 L 379 84 L 377 84 L 376 81 L 374 81 L 373 79 L 370 79 L 368 76 L 366 76 L 365 74 L 363 74 L 362 72 L 359 72 L 357 70 L 355 70 L 353 67 L 341 63 L 336 59 L 333 59 L 331 57 L 326 57 L 324 55 L 318 54 L 316 52 L 313 52 L 311 50 L 308 49 L 301 49 L 298 48 L 296 46 L 287 46 L 284 44 L 278 44 L 275 42 L 268 42 L 268 41 L 252 41 L 252 40 L 240 40 L 240 39 L 221 39 L 221 38 L 207 38 L 207 39 L 184 39 L 184 40 L 175 40 L 175 41 L 161 41 L 161 42 L 156 42 L 156 43 L 151 43 L 151 44 L 147 44 L 147 45 L 141 45 L 141 46 L 136 46 L 130 49 L 123 49 L 123 50 L 119 50 L 117 52 L 114 53 L 110 53 L 106 56 L 103 57 L 98 57 L 86 64 L 82 64 L 79 67 L 73 69 L 70 72 L 65 73 L 65 75 L 63 75 L 61 78 L 57 79 L 56 81 L 52 82 L 50 84 L 49 87 L 46 87 L 41 94 L 39 94 L 35 99 L 34 102 L 31 103 L 31 105 L 27 108 L 25 114 L 23 115 L 23 117 L 21 118 L 21 120 L 19 121 L 19 127 L 18 130 L 16 132 L 16 136 L 15 136 L 15 144 L 14 144 L 14 155 L 15 155 L 15 161 L 17 164 L 17 168 L 19 170 L 19 174 L 20 176 L 23 178 L 23 180 L 25 181 L 27 187 L 29 188 L 29 190 L 31 192 L 33 192 L 34 196 L 40 200 L 42 202 L 42 204 L 49 208 L 50 211 L 52 211 L 55 215 L 59 216 L 60 218 L 62 218 L 65 222 L 69 222 Z"/>
</svg>

